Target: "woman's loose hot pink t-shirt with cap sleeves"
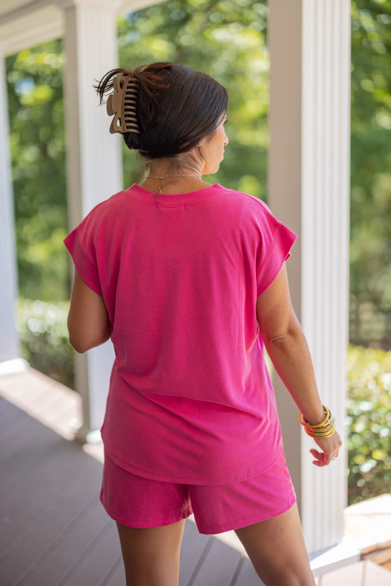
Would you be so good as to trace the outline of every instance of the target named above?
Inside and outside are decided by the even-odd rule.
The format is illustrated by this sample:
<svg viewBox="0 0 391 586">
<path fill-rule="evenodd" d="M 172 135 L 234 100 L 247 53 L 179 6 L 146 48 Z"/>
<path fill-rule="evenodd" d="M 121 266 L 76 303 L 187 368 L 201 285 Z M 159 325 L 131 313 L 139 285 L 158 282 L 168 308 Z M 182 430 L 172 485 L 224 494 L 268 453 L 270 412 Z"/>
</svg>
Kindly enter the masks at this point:
<svg viewBox="0 0 391 586">
<path fill-rule="evenodd" d="M 297 235 L 218 183 L 155 197 L 132 185 L 64 240 L 113 325 L 104 446 L 145 478 L 240 482 L 283 449 L 256 301 Z"/>
</svg>

